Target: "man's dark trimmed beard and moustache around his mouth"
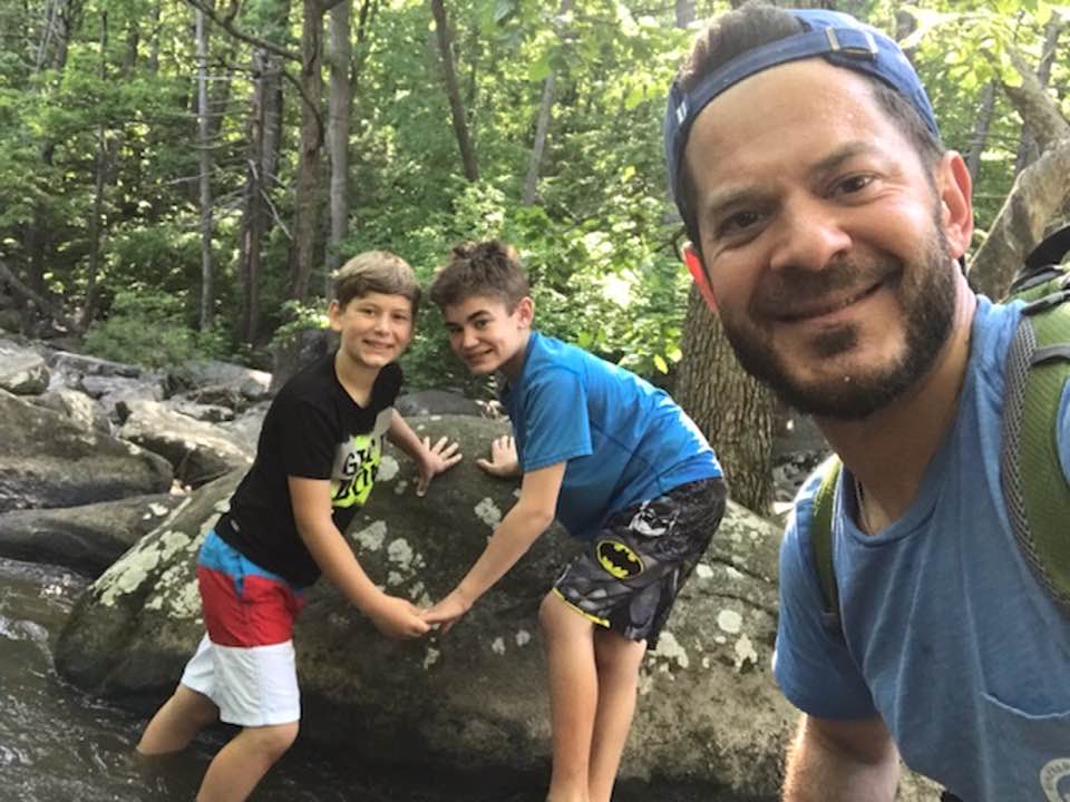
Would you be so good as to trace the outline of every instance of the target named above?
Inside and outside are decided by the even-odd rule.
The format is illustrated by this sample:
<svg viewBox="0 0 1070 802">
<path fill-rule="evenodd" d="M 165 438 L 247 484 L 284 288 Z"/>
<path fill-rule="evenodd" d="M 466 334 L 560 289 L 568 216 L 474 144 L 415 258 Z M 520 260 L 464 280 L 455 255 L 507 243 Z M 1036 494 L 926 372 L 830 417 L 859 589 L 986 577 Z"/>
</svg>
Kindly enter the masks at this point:
<svg viewBox="0 0 1070 802">
<path fill-rule="evenodd" d="M 806 414 L 838 420 L 860 420 L 883 409 L 913 387 L 933 366 L 951 332 L 955 315 L 955 274 L 940 219 L 918 260 L 907 266 L 883 256 L 864 263 L 843 260 L 818 273 L 785 268 L 749 310 L 750 320 L 767 320 L 778 309 L 808 299 L 829 297 L 844 287 L 860 287 L 883 281 L 902 309 L 906 322 L 906 348 L 889 365 L 872 372 L 845 374 L 840 380 L 800 382 L 786 370 L 763 330 L 735 325 L 723 320 L 724 334 L 748 373 L 768 384 L 787 404 Z M 862 277 L 864 281 L 859 281 Z M 757 313 L 757 314 L 756 314 Z M 850 351 L 858 340 L 856 325 L 837 326 L 817 334 L 810 348 L 827 359 Z"/>
</svg>

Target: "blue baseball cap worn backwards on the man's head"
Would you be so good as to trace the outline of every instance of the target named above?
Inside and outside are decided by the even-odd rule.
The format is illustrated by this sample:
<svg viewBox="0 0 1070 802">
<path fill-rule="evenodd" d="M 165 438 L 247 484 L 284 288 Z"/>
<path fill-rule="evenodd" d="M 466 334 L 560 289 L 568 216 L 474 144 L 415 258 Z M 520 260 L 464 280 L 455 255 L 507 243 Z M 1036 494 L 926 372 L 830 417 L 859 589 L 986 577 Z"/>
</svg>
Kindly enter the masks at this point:
<svg viewBox="0 0 1070 802">
<path fill-rule="evenodd" d="M 837 67 L 877 78 L 903 95 L 928 129 L 940 138 L 936 117 L 925 89 L 911 62 L 892 39 L 876 28 L 838 11 L 786 11 L 798 19 L 805 30 L 737 56 L 706 76 L 690 91 L 684 91 L 679 81 L 673 81 L 665 110 L 665 159 L 669 163 L 669 188 L 678 206 L 682 204 L 679 188 L 683 150 L 691 126 L 702 109 L 739 81 L 787 61 L 820 56 Z"/>
</svg>

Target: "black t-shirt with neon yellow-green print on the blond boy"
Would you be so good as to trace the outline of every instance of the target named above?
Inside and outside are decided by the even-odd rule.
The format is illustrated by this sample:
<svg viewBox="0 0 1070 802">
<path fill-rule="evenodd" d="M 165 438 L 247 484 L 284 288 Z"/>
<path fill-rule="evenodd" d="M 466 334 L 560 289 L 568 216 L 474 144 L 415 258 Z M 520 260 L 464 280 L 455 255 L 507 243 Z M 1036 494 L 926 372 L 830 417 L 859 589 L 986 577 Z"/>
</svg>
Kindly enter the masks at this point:
<svg viewBox="0 0 1070 802">
<path fill-rule="evenodd" d="M 268 410 L 256 459 L 216 525 L 220 537 L 294 585 L 314 583 L 320 568 L 298 534 L 286 477 L 330 479 L 331 517 L 346 531 L 371 492 L 400 389 L 401 369 L 390 363 L 361 407 L 339 383 L 333 353 L 294 375 Z"/>
</svg>

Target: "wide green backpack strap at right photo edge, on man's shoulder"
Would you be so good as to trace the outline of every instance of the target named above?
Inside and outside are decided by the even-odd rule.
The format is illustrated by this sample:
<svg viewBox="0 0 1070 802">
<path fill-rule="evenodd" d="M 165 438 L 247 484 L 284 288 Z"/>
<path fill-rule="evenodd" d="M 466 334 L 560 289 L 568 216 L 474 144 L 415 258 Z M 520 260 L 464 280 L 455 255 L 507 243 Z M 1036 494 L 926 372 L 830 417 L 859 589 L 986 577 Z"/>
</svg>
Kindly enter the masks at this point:
<svg viewBox="0 0 1070 802">
<path fill-rule="evenodd" d="M 1056 439 L 1070 379 L 1070 275 L 1053 270 L 1049 281 L 1030 287 L 1034 300 L 1008 352 L 1000 479 L 1022 554 L 1070 615 L 1070 486 Z"/>
</svg>

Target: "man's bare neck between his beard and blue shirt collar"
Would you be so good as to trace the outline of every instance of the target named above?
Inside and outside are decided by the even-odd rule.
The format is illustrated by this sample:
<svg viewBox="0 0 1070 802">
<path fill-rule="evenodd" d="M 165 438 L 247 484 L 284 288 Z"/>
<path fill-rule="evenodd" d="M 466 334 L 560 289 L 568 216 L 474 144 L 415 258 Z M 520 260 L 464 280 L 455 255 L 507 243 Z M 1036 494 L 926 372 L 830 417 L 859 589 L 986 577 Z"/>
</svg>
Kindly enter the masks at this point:
<svg viewBox="0 0 1070 802">
<path fill-rule="evenodd" d="M 815 420 L 844 464 L 865 488 L 877 528 L 899 518 L 959 409 L 970 361 L 976 296 L 960 278 L 951 336 L 933 368 L 901 399 L 865 420 Z"/>
</svg>

